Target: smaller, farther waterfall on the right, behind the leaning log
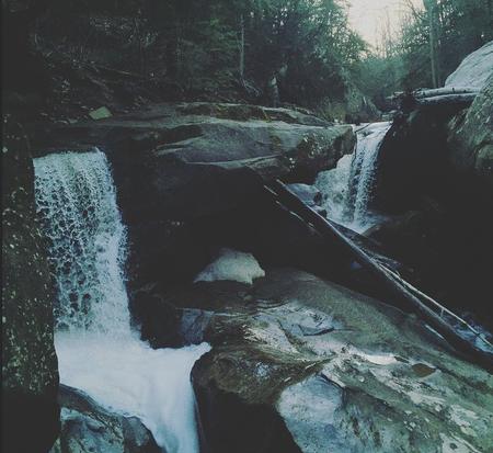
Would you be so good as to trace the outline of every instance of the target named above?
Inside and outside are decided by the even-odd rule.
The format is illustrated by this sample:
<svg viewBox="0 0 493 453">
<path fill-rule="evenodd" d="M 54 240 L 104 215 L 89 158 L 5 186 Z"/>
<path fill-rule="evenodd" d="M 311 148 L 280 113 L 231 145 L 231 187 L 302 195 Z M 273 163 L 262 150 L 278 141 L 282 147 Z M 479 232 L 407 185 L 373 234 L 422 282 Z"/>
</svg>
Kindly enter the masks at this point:
<svg viewBox="0 0 493 453">
<path fill-rule="evenodd" d="M 356 133 L 355 151 L 343 156 L 335 169 L 322 171 L 316 181 L 329 218 L 357 233 L 363 233 L 377 219 L 368 205 L 375 186 L 380 145 L 389 128 L 390 123 L 374 123 L 360 128 Z"/>
</svg>

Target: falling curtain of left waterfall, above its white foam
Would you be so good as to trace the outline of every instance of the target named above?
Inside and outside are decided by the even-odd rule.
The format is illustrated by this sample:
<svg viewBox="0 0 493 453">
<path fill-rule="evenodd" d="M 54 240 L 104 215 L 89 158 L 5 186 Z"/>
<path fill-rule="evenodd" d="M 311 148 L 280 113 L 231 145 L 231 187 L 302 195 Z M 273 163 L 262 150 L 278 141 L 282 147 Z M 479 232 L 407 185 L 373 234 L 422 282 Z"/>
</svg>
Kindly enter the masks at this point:
<svg viewBox="0 0 493 453">
<path fill-rule="evenodd" d="M 34 168 L 58 287 L 57 329 L 128 332 L 125 228 L 105 156 L 60 154 L 35 159 Z"/>
</svg>

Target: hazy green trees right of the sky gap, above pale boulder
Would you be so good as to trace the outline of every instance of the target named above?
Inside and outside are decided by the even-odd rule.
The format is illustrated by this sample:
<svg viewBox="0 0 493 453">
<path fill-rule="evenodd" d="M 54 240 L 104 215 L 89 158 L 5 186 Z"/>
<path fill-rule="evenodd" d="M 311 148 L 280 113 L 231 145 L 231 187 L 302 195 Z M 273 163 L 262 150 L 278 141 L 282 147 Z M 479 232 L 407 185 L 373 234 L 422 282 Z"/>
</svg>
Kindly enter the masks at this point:
<svg viewBox="0 0 493 453">
<path fill-rule="evenodd" d="M 356 83 L 380 109 L 388 106 L 386 98 L 394 91 L 443 84 L 468 54 L 493 39 L 492 3 L 492 0 L 425 0 L 425 8 L 416 9 L 409 2 L 398 36 L 392 39 L 386 36 L 386 47 L 380 54 L 369 54 L 362 60 Z"/>
</svg>

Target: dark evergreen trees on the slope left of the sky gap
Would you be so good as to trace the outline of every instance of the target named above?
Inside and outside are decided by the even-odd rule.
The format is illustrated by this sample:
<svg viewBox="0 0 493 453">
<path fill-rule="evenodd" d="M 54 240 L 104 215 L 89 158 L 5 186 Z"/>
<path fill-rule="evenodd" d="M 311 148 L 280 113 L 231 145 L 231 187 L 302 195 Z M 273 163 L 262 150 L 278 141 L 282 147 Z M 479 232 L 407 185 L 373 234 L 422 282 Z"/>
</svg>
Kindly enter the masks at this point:
<svg viewBox="0 0 493 453">
<path fill-rule="evenodd" d="M 50 52 L 138 71 L 192 97 L 343 100 L 365 43 L 345 0 L 51 0 Z M 271 91 L 270 91 L 271 90 Z"/>
</svg>

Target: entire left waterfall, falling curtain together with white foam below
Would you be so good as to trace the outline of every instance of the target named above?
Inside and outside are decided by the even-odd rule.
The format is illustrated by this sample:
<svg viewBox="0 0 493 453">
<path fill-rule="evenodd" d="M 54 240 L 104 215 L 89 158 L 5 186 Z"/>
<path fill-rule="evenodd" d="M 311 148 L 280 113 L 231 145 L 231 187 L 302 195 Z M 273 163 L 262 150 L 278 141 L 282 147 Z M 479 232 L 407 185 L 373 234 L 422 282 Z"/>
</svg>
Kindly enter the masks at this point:
<svg viewBox="0 0 493 453">
<path fill-rule="evenodd" d="M 126 231 L 103 152 L 34 160 L 36 204 L 56 272 L 60 381 L 139 417 L 168 453 L 198 452 L 190 372 L 208 344 L 153 350 L 130 329 Z"/>
</svg>

